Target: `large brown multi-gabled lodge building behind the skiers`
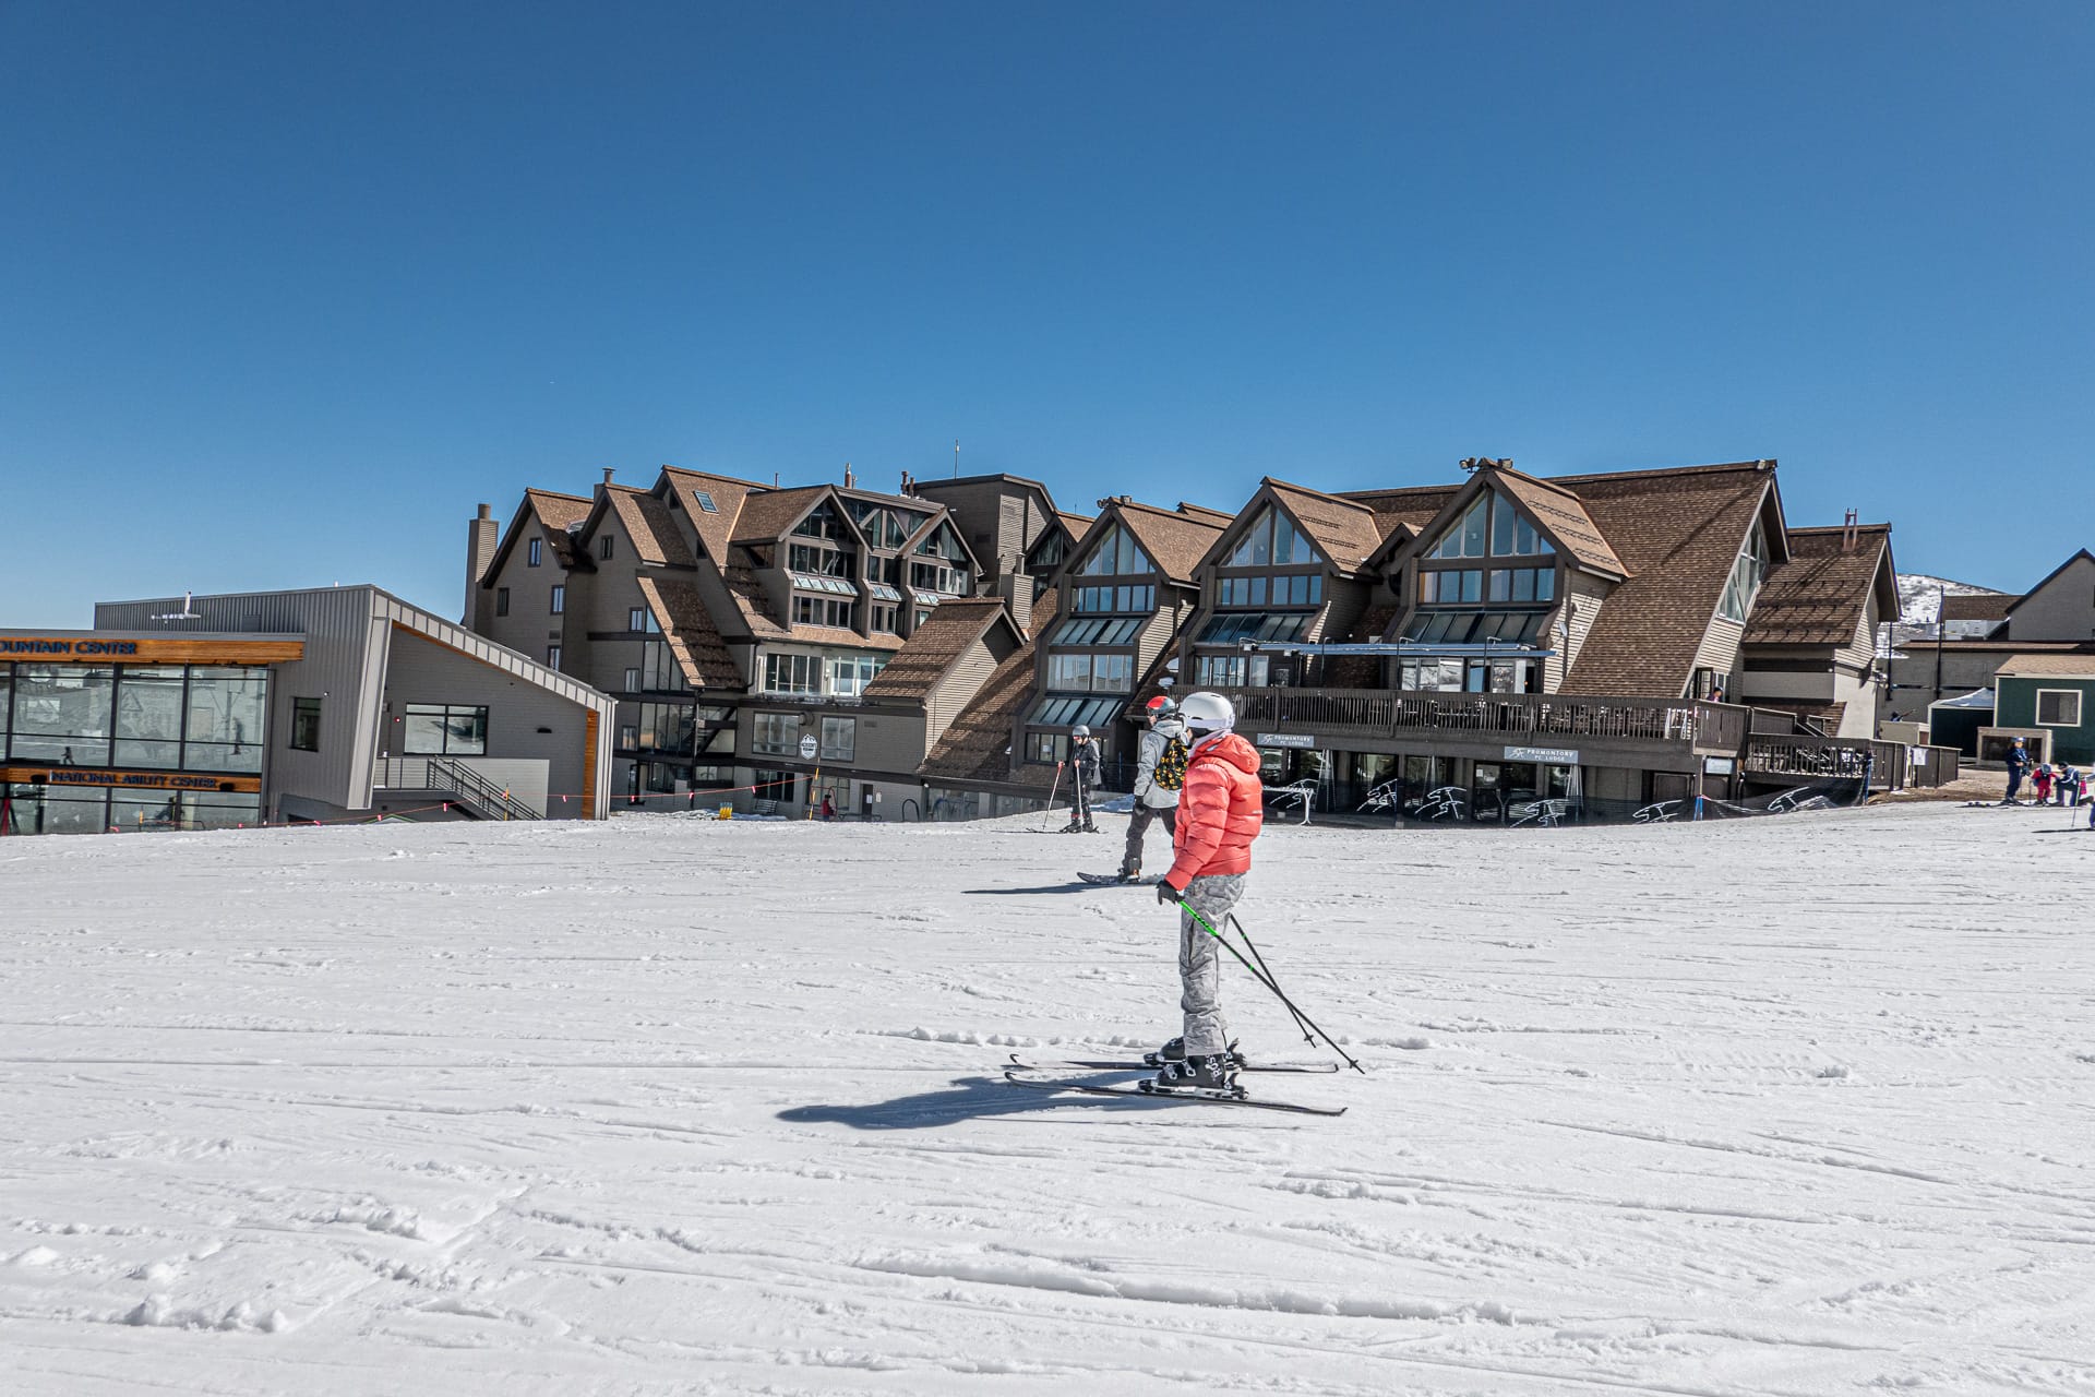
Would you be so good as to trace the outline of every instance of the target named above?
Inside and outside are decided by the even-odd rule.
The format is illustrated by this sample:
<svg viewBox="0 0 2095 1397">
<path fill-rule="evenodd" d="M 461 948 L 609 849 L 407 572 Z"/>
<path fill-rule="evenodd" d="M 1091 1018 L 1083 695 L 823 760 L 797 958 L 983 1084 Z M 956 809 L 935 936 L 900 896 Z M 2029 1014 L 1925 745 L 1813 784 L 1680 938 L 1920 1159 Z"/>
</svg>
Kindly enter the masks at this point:
<svg viewBox="0 0 2095 1397">
<path fill-rule="evenodd" d="M 1793 528 L 1774 461 L 1467 461 L 1094 515 L 1016 475 L 605 471 L 480 507 L 465 626 L 616 700 L 614 808 L 1029 811 L 1073 725 L 1125 790 L 1142 702 L 1217 689 L 1282 802 L 1554 823 L 1938 779 L 1877 741 L 1896 616 L 1890 526 Z"/>
</svg>

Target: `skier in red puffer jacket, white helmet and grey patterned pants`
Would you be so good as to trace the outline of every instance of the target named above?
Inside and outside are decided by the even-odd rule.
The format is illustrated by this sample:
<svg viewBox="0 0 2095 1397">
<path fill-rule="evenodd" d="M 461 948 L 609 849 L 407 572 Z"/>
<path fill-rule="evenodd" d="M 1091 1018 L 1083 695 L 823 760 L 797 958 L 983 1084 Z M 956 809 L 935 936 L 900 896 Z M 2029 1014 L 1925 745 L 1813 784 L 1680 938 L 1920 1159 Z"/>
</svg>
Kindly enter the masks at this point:
<svg viewBox="0 0 2095 1397">
<path fill-rule="evenodd" d="M 1219 928 L 1244 896 L 1251 842 L 1265 823 L 1259 750 L 1238 737 L 1236 710 L 1219 693 L 1188 693 L 1179 718 L 1192 733 L 1186 785 L 1171 836 L 1175 859 L 1156 884 L 1165 907 L 1196 909 Z M 1221 1022 L 1221 947 L 1192 911 L 1179 911 L 1179 1010 L 1184 1037 L 1165 1043 L 1161 1087 L 1228 1087 L 1230 1033 Z"/>
</svg>

